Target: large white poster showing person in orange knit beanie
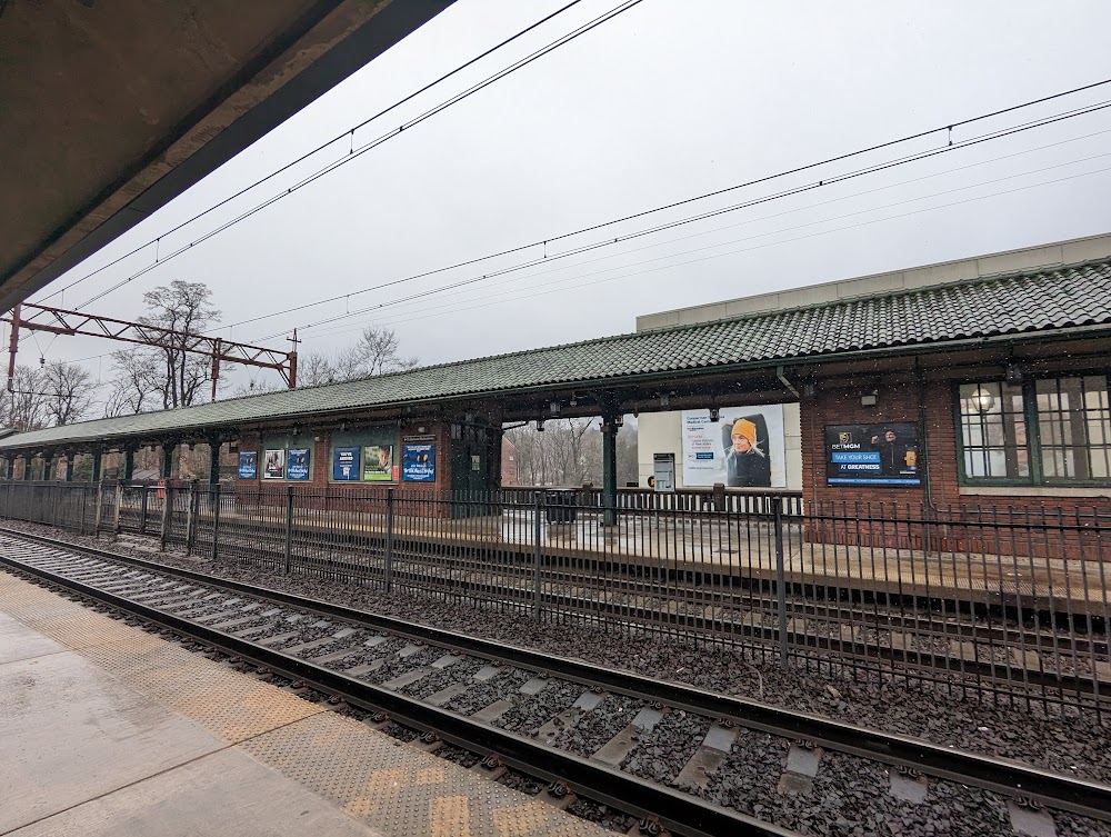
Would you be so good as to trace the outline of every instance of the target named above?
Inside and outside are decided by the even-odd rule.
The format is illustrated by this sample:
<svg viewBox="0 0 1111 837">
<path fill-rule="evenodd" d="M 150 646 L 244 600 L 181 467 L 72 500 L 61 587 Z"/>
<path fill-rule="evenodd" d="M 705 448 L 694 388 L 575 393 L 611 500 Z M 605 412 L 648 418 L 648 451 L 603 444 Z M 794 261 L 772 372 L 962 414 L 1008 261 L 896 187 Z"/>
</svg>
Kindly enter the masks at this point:
<svg viewBox="0 0 1111 837">
<path fill-rule="evenodd" d="M 683 484 L 787 488 L 783 405 L 683 410 Z"/>
</svg>

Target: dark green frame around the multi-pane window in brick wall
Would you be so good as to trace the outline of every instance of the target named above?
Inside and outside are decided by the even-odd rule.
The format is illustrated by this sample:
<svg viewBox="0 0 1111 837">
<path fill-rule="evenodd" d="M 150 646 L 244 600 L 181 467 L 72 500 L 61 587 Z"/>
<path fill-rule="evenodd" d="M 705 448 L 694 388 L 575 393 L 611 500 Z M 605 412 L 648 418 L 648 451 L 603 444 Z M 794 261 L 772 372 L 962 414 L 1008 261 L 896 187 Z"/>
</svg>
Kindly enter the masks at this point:
<svg viewBox="0 0 1111 837">
<path fill-rule="evenodd" d="M 1028 375 L 1022 380 L 1022 420 L 1027 428 L 1027 461 L 1030 464 L 1029 477 L 970 477 L 965 471 L 964 461 L 964 422 L 961 413 L 961 387 L 969 383 L 1005 383 L 1001 377 L 962 378 L 953 382 L 953 431 L 957 440 L 957 481 L 962 488 L 977 487 L 1027 487 L 1027 488 L 1107 488 L 1111 486 L 1111 477 L 1107 479 L 1061 479 L 1045 477 L 1042 459 L 1041 419 L 1038 410 L 1038 381 L 1060 380 L 1061 378 L 1085 378 L 1102 376 L 1111 392 L 1111 370 L 1069 370 L 1053 375 Z"/>
</svg>

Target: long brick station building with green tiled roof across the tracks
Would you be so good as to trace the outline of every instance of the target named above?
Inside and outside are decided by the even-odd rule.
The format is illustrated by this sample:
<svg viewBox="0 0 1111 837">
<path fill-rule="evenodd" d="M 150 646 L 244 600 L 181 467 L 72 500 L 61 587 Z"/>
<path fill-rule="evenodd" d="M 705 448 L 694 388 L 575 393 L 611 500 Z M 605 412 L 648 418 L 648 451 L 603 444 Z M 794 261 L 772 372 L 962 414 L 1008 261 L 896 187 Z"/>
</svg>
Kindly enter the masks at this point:
<svg viewBox="0 0 1111 837">
<path fill-rule="evenodd" d="M 808 511 L 1107 515 L 1109 369 L 1103 236 L 652 315 L 635 333 L 12 434 L 0 474 L 72 478 L 92 455 L 98 479 L 116 452 L 127 479 L 134 451 L 159 446 L 170 477 L 170 452 L 208 445 L 214 480 L 237 445 L 239 485 L 481 492 L 500 486 L 503 424 L 601 416 L 615 507 L 623 416 L 639 416 L 644 485 L 653 454 L 682 461 L 683 410 L 782 405 L 780 486 Z M 809 536 L 914 537 L 868 521 Z"/>
</svg>

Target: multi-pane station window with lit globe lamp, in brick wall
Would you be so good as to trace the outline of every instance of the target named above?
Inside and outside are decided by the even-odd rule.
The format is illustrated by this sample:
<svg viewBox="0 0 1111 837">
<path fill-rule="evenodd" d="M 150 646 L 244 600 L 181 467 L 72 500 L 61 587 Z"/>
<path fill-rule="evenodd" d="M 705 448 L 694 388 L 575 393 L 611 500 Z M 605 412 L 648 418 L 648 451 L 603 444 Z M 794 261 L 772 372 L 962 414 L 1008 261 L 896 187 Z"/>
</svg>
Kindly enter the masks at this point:
<svg viewBox="0 0 1111 837">
<path fill-rule="evenodd" d="M 975 381 L 958 388 L 967 485 L 1111 484 L 1108 376 Z"/>
</svg>

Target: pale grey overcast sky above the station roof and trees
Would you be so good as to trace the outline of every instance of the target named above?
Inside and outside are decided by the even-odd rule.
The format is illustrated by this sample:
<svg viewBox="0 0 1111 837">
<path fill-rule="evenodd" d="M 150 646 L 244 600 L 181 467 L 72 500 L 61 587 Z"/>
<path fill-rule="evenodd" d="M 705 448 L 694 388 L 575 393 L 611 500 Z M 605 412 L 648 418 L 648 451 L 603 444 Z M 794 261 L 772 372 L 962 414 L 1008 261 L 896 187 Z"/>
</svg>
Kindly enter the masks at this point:
<svg viewBox="0 0 1111 837">
<path fill-rule="evenodd" d="M 400 1 L 400 0 L 398 0 Z M 458 0 L 39 299 L 564 4 Z M 619 6 L 583 0 L 521 41 L 159 243 L 162 256 Z M 612 21 L 89 306 L 139 313 L 173 279 L 208 282 L 223 336 L 330 351 L 388 325 L 426 363 L 631 331 L 637 315 L 1111 231 L 1111 109 L 478 281 L 536 258 L 948 143 L 933 134 L 819 171 L 467 268 L 290 312 L 1111 77 L 1111 3 L 643 0 Z M 958 128 L 960 142 L 1111 100 L 1111 84 Z M 147 248 L 54 296 L 84 303 Z M 371 306 L 377 310 L 309 327 Z M 21 362 L 118 345 L 24 337 Z M 104 357 L 92 357 L 104 355 Z M 270 373 L 266 373 L 270 375 Z M 277 376 L 274 375 L 274 378 Z M 237 381 L 246 380 L 239 372 Z"/>
</svg>

